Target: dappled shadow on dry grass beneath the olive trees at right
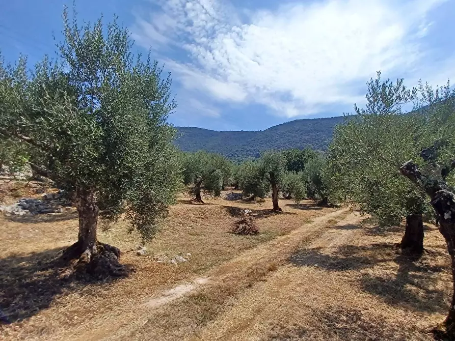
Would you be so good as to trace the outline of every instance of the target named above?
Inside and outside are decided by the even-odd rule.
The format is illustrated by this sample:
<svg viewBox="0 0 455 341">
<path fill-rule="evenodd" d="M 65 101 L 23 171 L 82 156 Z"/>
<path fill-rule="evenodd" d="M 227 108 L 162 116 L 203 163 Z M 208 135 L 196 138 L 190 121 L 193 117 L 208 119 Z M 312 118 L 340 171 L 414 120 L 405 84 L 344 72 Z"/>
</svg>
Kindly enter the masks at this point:
<svg viewBox="0 0 455 341">
<path fill-rule="evenodd" d="M 289 261 L 298 266 L 313 266 L 328 271 L 361 271 L 358 283 L 363 291 L 381 297 L 390 305 L 425 312 L 447 311 L 448 295 L 437 288 L 435 274 L 445 266 L 432 265 L 444 252 L 432 251 L 417 259 L 400 251 L 392 243 L 366 246 L 343 245 L 333 253 L 320 248 L 305 249 L 291 255 Z M 395 264 L 393 264 L 395 263 Z M 396 269 L 398 265 L 398 269 Z"/>
</svg>

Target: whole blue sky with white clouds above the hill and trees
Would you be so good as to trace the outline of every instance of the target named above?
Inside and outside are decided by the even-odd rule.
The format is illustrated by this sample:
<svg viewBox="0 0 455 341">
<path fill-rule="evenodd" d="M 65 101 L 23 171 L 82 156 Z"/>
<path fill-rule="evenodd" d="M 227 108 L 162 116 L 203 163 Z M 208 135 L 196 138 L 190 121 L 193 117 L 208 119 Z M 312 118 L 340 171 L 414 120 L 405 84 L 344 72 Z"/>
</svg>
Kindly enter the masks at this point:
<svg viewBox="0 0 455 341">
<path fill-rule="evenodd" d="M 0 50 L 31 63 L 61 40 L 63 0 L 0 11 Z M 455 0 L 76 0 L 79 20 L 115 13 L 136 51 L 172 73 L 177 126 L 262 130 L 362 105 L 366 81 L 455 79 Z"/>
</svg>

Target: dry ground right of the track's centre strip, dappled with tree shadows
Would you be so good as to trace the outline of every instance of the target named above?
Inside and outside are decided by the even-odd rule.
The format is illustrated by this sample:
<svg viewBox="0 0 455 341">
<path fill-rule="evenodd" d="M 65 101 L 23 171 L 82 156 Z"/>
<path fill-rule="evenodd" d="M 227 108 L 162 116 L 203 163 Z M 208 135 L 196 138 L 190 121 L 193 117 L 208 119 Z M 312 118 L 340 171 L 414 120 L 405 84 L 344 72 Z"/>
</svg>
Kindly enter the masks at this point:
<svg viewBox="0 0 455 341">
<path fill-rule="evenodd" d="M 359 221 L 350 215 L 304 245 L 190 339 L 432 340 L 425 329 L 442 321 L 448 292 L 433 272 L 439 260 L 397 256 Z"/>
</svg>

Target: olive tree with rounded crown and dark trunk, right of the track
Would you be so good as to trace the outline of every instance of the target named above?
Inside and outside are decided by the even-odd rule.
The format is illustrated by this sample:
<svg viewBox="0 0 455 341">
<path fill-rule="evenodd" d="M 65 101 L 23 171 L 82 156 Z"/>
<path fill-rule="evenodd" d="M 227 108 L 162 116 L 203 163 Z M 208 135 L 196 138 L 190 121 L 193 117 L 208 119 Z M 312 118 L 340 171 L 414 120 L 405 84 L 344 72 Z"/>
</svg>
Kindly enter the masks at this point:
<svg viewBox="0 0 455 341">
<path fill-rule="evenodd" d="M 405 181 L 398 168 L 414 158 L 421 141 L 424 117 L 403 114 L 415 100 L 417 88 L 407 89 L 403 79 L 368 83 L 367 104 L 354 107 L 356 116 L 336 127 L 329 147 L 330 188 L 339 201 L 357 205 L 382 224 L 398 224 L 406 217 L 400 246 L 423 251 L 422 214 L 431 213 L 423 191 Z"/>
</svg>

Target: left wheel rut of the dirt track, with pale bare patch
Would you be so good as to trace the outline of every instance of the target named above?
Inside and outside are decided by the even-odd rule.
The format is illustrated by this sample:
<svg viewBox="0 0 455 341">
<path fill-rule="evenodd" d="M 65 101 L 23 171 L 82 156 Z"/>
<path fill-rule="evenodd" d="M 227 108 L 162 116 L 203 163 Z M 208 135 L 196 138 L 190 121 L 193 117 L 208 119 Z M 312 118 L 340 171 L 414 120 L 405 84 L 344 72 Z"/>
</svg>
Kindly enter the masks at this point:
<svg viewBox="0 0 455 341">
<path fill-rule="evenodd" d="M 215 317 L 237 292 L 250 288 L 257 280 L 263 280 L 270 272 L 275 271 L 299 244 L 322 235 L 328 225 L 333 225 L 338 219 L 349 214 L 349 210 L 340 209 L 315 217 L 301 228 L 246 250 L 233 260 L 209 271 L 202 277 L 208 277 L 208 280 L 199 280 L 197 283 L 196 279 L 167 292 L 155 294 L 138 302 L 130 314 L 103 321 L 102 325 L 90 332 L 78 330 L 76 335 L 59 335 L 52 339 L 71 337 L 81 341 L 94 341 L 188 338 Z M 205 295 L 209 297 L 204 297 Z M 220 302 L 213 304 L 213 296 Z M 201 300 L 206 300 L 202 311 L 201 305 L 204 306 L 205 303 L 200 304 Z M 216 310 L 215 315 L 213 309 Z"/>
</svg>

